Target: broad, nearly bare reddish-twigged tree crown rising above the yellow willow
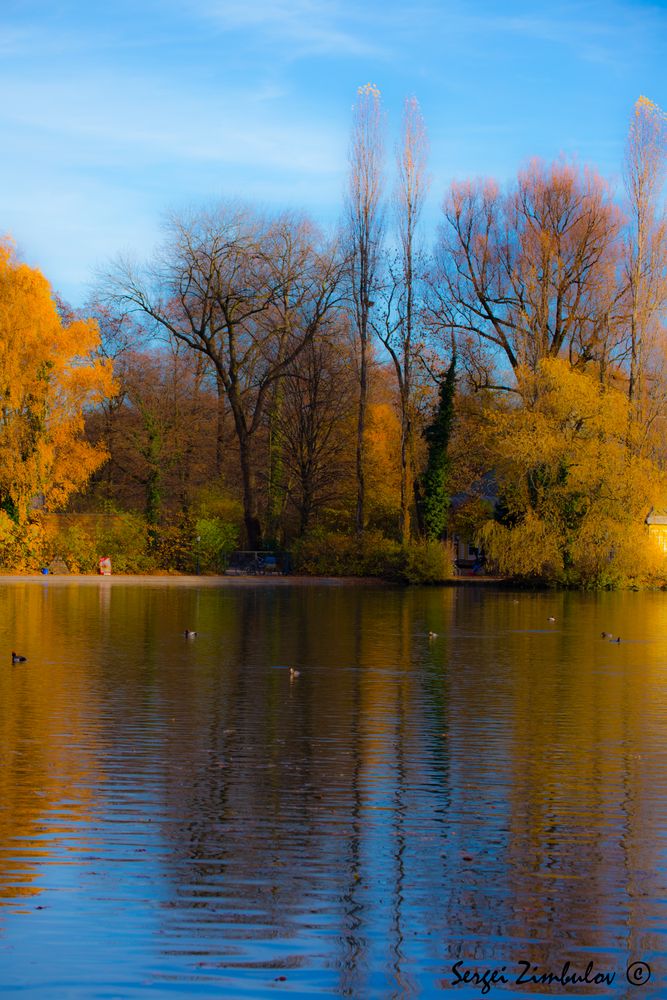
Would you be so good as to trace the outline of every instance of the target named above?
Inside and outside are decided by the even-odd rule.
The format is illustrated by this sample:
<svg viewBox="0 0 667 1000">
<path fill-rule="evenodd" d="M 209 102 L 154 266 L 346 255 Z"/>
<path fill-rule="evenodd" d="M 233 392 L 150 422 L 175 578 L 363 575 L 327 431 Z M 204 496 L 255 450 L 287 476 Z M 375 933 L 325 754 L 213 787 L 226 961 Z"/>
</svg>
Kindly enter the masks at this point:
<svg viewBox="0 0 667 1000">
<path fill-rule="evenodd" d="M 604 181 L 566 163 L 533 161 L 505 192 L 490 180 L 452 185 L 432 315 L 461 354 L 481 349 L 468 368 L 479 386 L 492 387 L 503 362 L 510 372 L 561 354 L 609 362 L 621 339 L 620 227 Z"/>
</svg>

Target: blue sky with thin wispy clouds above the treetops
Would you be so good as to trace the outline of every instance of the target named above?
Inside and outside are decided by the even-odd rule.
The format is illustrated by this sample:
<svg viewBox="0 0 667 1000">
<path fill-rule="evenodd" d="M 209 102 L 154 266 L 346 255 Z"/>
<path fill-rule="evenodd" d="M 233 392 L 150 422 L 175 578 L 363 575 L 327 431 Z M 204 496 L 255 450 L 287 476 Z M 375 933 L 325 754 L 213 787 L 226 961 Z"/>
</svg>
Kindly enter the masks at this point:
<svg viewBox="0 0 667 1000">
<path fill-rule="evenodd" d="M 453 178 L 533 155 L 617 179 L 666 67 L 664 2 L 0 0 L 0 232 L 80 305 L 170 209 L 240 197 L 334 223 L 369 81 L 390 154 L 421 104 L 432 224 Z"/>
</svg>

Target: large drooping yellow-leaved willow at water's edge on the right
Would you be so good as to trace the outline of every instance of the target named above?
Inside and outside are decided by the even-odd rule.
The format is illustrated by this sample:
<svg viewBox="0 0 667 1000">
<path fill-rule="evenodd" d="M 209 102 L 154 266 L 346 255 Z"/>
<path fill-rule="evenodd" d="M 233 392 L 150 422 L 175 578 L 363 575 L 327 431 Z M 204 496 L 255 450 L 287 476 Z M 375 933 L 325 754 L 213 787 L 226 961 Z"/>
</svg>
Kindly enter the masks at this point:
<svg viewBox="0 0 667 1000">
<path fill-rule="evenodd" d="M 614 586 L 655 573 L 643 526 L 664 477 L 628 441 L 624 393 L 566 361 L 520 369 L 522 404 L 488 415 L 501 503 L 481 530 L 508 574 Z"/>
</svg>

